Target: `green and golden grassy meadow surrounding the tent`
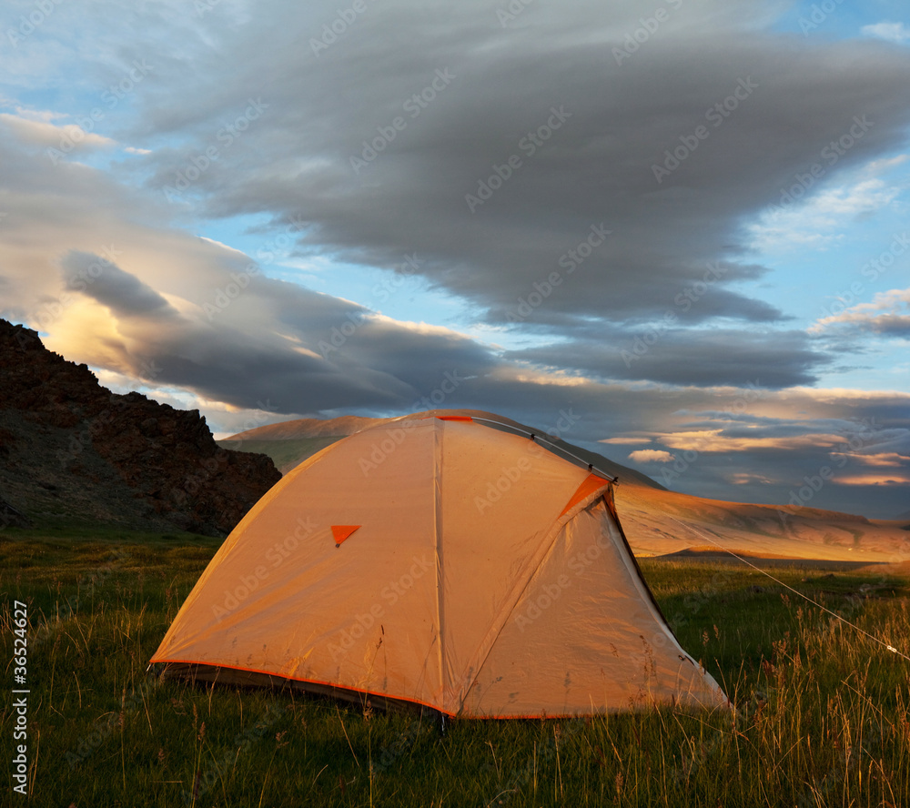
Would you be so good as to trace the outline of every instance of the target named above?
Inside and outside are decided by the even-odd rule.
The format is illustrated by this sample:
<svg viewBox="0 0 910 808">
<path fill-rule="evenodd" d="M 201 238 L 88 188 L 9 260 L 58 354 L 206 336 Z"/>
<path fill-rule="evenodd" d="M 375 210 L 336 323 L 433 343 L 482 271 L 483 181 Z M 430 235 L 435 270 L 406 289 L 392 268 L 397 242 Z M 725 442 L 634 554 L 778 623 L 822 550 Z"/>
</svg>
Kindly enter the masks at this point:
<svg viewBox="0 0 910 808">
<path fill-rule="evenodd" d="M 440 740 L 429 718 L 147 678 L 217 545 L 187 534 L 5 531 L 6 660 L 13 601 L 29 604 L 32 803 L 910 804 L 910 663 L 757 572 L 642 560 L 682 646 L 723 683 L 735 715 L 667 707 L 459 721 Z M 910 582 L 797 566 L 773 574 L 906 652 Z M 10 664 L 8 681 L 12 673 Z"/>
</svg>

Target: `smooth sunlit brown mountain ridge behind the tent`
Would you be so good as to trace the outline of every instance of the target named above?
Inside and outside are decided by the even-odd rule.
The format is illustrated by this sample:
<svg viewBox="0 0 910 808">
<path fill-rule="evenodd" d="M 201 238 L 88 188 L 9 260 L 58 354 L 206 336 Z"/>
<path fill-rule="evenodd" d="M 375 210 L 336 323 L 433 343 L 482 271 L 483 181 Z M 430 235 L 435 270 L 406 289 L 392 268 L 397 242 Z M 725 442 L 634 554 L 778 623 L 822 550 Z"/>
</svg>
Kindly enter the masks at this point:
<svg viewBox="0 0 910 808">
<path fill-rule="evenodd" d="M 441 413 L 442 410 L 432 410 L 409 417 Z M 480 410 L 446 410 L 445 413 L 495 419 L 513 429 L 530 430 L 516 421 Z M 291 420 L 249 429 L 219 443 L 226 448 L 266 452 L 278 469 L 286 473 L 336 440 L 381 423 L 388 423 L 389 429 L 394 429 L 396 420 L 399 419 L 351 416 Z M 561 440 L 554 442 L 563 451 L 619 478 L 615 496 L 620 520 L 632 550 L 639 556 L 681 551 L 691 554 L 694 549 L 697 555 L 727 555 L 725 550 L 732 550 L 753 560 L 770 557 L 849 561 L 859 565 L 910 559 L 910 531 L 906 530 L 904 521 L 868 520 L 814 508 L 705 500 L 666 490 L 641 472 L 596 452 Z"/>
</svg>

